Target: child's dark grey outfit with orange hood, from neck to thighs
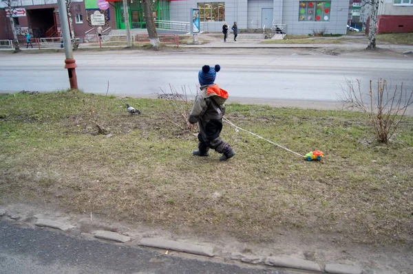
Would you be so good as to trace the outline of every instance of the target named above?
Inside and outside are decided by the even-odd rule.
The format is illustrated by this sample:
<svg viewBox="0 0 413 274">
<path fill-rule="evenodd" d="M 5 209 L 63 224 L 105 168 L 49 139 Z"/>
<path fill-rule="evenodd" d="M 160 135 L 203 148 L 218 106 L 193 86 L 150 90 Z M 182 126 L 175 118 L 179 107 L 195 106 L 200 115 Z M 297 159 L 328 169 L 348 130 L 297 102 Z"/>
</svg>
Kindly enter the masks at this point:
<svg viewBox="0 0 413 274">
<path fill-rule="evenodd" d="M 188 121 L 191 124 L 198 122 L 202 141 L 212 141 L 220 137 L 228 92 L 218 87 L 218 84 L 204 85 L 200 89 Z"/>
</svg>

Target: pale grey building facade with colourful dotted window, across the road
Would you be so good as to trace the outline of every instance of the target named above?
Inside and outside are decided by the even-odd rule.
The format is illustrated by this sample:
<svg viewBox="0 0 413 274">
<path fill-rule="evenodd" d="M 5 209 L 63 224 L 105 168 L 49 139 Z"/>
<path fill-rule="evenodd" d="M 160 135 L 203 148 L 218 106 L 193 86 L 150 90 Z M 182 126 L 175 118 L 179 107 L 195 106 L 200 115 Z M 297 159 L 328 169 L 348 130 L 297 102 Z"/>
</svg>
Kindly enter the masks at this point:
<svg viewBox="0 0 413 274">
<path fill-rule="evenodd" d="M 200 19 L 209 31 L 222 30 L 224 22 L 237 22 L 239 29 L 288 25 L 289 34 L 346 34 L 348 0 L 182 0 L 171 1 L 171 21 L 189 21 L 190 8 L 200 9 Z"/>
</svg>

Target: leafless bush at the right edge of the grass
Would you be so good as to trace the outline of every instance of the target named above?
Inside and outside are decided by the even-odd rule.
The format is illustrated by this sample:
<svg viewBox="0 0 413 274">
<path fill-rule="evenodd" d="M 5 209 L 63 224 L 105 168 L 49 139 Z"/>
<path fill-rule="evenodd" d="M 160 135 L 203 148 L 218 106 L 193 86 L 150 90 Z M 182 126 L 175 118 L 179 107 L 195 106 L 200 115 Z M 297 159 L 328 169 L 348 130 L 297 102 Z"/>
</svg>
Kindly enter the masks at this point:
<svg viewBox="0 0 413 274">
<path fill-rule="evenodd" d="M 394 91 L 390 91 L 387 81 L 380 79 L 374 91 L 370 80 L 370 89 L 366 94 L 361 91 L 360 80 L 357 80 L 355 87 L 350 80 L 346 82 L 347 89 L 343 89 L 341 102 L 348 109 L 357 109 L 365 113 L 374 127 L 377 139 L 381 143 L 388 144 L 405 117 L 407 108 L 413 104 L 413 90 L 403 91 L 402 83 L 400 89 L 396 86 Z M 370 102 L 366 103 L 363 96 Z"/>
</svg>

